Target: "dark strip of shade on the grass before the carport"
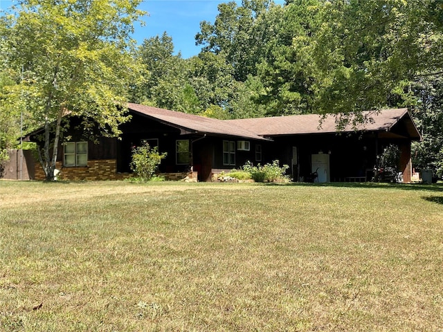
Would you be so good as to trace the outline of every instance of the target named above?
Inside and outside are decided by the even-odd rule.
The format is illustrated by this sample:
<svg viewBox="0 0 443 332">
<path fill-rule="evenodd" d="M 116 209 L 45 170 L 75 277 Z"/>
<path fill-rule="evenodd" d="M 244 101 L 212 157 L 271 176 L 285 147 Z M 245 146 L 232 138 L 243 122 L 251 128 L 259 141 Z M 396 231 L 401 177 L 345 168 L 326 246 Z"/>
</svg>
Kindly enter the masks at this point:
<svg viewBox="0 0 443 332">
<path fill-rule="evenodd" d="M 269 183 L 269 185 L 272 185 Z M 275 184 L 277 185 L 277 184 Z M 354 182 L 330 182 L 330 183 L 300 183 L 294 182 L 289 185 L 307 187 L 346 187 L 346 188 L 377 188 L 377 189 L 400 189 L 400 190 L 426 190 L 430 192 L 443 192 L 443 183 L 424 185 L 422 183 L 354 183 Z M 439 202 L 441 203 L 441 202 Z"/>
</svg>

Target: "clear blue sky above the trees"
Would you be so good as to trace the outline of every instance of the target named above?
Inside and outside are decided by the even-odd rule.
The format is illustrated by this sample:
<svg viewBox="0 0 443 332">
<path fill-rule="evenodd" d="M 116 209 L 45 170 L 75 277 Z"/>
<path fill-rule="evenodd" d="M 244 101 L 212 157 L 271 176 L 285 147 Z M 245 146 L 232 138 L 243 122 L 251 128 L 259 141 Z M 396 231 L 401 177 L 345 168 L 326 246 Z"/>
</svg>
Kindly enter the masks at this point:
<svg viewBox="0 0 443 332">
<path fill-rule="evenodd" d="M 214 23 L 219 3 L 229 0 L 144 0 L 138 9 L 148 12 L 143 18 L 145 26 L 136 25 L 134 39 L 142 44 L 144 39 L 163 35 L 166 31 L 174 43 L 174 52 L 184 59 L 197 55 L 201 46 L 195 46 L 195 35 L 201 21 Z M 236 1 L 240 6 L 242 1 Z M 282 3 L 277 0 L 275 3 Z M 13 0 L 0 0 L 0 9 L 10 7 Z"/>
</svg>

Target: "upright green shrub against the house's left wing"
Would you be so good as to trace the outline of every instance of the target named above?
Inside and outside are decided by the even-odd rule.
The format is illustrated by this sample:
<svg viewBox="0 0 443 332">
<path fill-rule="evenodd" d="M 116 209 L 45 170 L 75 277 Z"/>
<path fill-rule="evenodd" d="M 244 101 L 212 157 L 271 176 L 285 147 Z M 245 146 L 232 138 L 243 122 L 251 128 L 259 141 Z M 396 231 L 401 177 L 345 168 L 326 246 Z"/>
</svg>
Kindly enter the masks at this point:
<svg viewBox="0 0 443 332">
<path fill-rule="evenodd" d="M 158 147 L 150 147 L 146 141 L 143 141 L 141 146 L 132 149 L 130 166 L 136 178 L 143 182 L 150 181 L 164 158 L 166 158 L 165 152 L 160 154 Z"/>
</svg>

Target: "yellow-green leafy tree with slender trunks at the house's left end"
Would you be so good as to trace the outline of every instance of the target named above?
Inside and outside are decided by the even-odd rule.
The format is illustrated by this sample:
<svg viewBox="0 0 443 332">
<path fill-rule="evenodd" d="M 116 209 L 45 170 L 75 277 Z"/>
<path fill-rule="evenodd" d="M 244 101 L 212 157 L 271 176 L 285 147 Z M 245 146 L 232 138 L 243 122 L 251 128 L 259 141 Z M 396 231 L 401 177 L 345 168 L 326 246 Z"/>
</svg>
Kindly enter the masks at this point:
<svg viewBox="0 0 443 332">
<path fill-rule="evenodd" d="M 39 156 L 48 181 L 65 116 L 80 116 L 86 129 L 98 127 L 105 136 L 118 136 L 128 119 L 124 103 L 142 80 L 130 38 L 143 15 L 140 2 L 21 0 L 3 17 L 0 57 L 19 85 L 15 100 L 25 99 L 35 126 L 44 127 Z"/>
</svg>

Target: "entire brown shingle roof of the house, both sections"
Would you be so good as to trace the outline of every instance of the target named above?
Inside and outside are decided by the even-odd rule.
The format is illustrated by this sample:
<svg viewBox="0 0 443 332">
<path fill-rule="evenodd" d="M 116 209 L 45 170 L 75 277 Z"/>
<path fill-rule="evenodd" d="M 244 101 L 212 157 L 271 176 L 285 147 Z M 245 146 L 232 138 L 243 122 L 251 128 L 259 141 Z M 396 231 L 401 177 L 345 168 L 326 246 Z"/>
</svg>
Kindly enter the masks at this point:
<svg viewBox="0 0 443 332">
<path fill-rule="evenodd" d="M 217 120 L 141 104 L 128 103 L 127 107 L 132 111 L 155 118 L 189 133 L 208 133 L 263 140 L 266 136 L 337 132 L 335 115 L 326 116 L 322 122 L 320 122 L 322 117 L 317 114 Z M 420 134 L 410 118 L 408 109 L 366 111 L 362 115 L 371 120 L 364 124 L 357 124 L 356 127 L 349 124 L 341 131 L 390 131 L 400 120 L 405 120 L 410 138 L 420 139 Z"/>
</svg>

